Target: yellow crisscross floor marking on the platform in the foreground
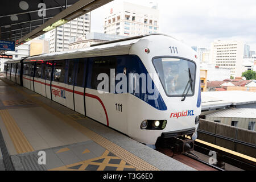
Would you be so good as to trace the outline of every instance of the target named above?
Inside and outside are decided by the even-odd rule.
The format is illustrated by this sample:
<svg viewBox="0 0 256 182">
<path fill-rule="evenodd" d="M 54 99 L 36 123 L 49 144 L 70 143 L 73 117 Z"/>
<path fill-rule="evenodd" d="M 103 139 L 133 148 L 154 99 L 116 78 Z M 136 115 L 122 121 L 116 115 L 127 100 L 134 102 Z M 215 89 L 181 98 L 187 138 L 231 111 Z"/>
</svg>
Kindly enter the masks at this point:
<svg viewBox="0 0 256 182">
<path fill-rule="evenodd" d="M 124 168 L 135 169 L 133 166 L 130 166 L 124 160 L 121 160 L 117 156 L 109 156 L 108 155 L 109 153 L 110 152 L 106 150 L 104 152 L 104 154 L 102 154 L 98 158 L 93 158 L 93 159 L 85 160 L 85 161 L 82 161 L 79 163 L 50 169 L 49 171 L 84 171 L 84 170 L 86 170 L 86 167 L 88 167 L 89 165 L 96 166 L 97 171 L 103 171 L 105 169 L 105 167 L 117 168 L 116 171 L 123 171 Z M 120 160 L 119 164 L 110 163 L 110 160 L 112 160 L 112 159 Z M 76 169 L 74 169 L 74 168 L 76 168 Z"/>
</svg>

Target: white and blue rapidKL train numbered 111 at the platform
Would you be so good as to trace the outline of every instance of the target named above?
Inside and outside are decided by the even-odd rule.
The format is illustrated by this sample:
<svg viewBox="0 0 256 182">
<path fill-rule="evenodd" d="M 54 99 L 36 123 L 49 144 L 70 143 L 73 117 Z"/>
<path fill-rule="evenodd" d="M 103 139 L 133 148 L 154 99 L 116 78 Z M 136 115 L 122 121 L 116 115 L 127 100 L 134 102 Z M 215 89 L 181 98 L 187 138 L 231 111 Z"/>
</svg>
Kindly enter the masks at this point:
<svg viewBox="0 0 256 182">
<path fill-rule="evenodd" d="M 185 135 L 195 138 L 199 64 L 190 47 L 151 34 L 7 61 L 5 75 L 138 142 L 170 144 Z"/>
</svg>

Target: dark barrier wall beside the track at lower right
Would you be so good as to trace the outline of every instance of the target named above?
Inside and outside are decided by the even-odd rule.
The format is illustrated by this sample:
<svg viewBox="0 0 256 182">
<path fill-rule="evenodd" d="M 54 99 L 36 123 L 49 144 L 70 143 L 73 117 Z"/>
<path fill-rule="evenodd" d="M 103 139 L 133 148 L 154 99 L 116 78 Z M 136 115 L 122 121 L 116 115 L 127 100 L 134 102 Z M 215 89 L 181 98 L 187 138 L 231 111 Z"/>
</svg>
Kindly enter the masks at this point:
<svg viewBox="0 0 256 182">
<path fill-rule="evenodd" d="M 199 129 L 224 137 L 237 139 L 242 142 L 256 144 L 255 131 L 245 130 L 234 126 L 228 126 L 205 119 L 200 119 Z M 256 158 L 256 150 L 243 144 L 234 143 L 229 140 L 213 137 L 203 133 L 198 134 L 198 139 Z"/>
</svg>

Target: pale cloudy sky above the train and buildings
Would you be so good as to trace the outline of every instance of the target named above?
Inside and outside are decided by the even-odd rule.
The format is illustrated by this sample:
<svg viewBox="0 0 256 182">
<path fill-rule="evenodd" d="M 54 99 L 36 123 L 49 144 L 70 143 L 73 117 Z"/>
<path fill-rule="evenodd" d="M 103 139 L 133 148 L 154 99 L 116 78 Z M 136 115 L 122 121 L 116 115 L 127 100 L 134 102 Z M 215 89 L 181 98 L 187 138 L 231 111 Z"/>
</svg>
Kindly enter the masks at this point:
<svg viewBox="0 0 256 182">
<path fill-rule="evenodd" d="M 104 18 L 114 0 L 92 11 L 91 32 L 104 32 Z M 188 46 L 210 48 L 214 40 L 240 40 L 256 51 L 255 0 L 127 0 L 138 5 L 157 3 L 159 33 L 168 34 Z"/>
</svg>

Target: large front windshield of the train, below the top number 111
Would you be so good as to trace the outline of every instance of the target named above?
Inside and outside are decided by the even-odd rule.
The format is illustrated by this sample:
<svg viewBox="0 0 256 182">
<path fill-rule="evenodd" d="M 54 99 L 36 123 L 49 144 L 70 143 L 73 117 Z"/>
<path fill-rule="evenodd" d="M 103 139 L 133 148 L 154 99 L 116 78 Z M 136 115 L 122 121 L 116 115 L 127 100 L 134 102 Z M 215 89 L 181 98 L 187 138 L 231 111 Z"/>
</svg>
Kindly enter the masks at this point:
<svg viewBox="0 0 256 182">
<path fill-rule="evenodd" d="M 169 97 L 180 97 L 195 92 L 196 65 L 192 61 L 160 57 L 153 60 L 163 88 Z"/>
</svg>

